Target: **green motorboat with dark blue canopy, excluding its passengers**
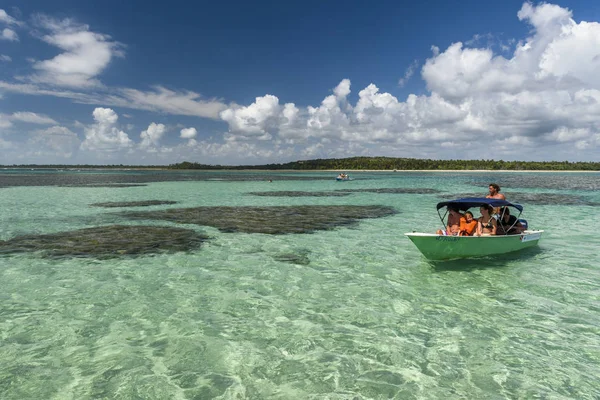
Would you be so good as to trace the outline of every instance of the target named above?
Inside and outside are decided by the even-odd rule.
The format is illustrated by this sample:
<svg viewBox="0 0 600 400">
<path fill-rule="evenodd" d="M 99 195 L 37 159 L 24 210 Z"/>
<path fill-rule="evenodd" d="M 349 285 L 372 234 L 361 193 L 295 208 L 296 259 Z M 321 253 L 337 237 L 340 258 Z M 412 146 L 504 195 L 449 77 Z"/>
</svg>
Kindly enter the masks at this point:
<svg viewBox="0 0 600 400">
<path fill-rule="evenodd" d="M 537 246 L 544 231 L 529 229 L 527 221 L 520 218 L 523 212 L 523 206 L 520 204 L 500 199 L 469 197 L 443 201 L 438 203 L 436 207 L 442 224 L 444 224 L 444 217 L 448 214 L 448 208 L 455 208 L 464 212 L 470 208 L 479 208 L 486 204 L 494 208 L 511 207 L 511 209 L 518 210 L 517 220 L 525 229 L 517 234 L 497 234 L 492 236 L 444 236 L 435 233 L 420 232 L 405 233 L 405 235 L 417 246 L 417 249 L 419 249 L 425 258 L 432 261 L 486 257 Z M 440 210 L 444 208 L 446 212 L 444 215 L 441 215 Z"/>
</svg>

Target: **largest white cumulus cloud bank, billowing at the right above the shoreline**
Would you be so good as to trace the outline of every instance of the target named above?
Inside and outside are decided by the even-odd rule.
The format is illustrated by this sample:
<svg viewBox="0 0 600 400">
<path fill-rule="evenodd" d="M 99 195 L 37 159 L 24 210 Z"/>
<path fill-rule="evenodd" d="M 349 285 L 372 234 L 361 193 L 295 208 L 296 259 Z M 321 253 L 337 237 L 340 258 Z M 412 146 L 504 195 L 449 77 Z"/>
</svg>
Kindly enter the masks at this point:
<svg viewBox="0 0 600 400">
<path fill-rule="evenodd" d="M 600 135 L 600 24 L 575 22 L 570 10 L 546 3 L 525 3 L 516 17 L 532 30 L 510 57 L 461 42 L 443 51 L 432 46 L 421 68 L 428 94 L 398 99 L 370 84 L 351 104 L 350 80 L 344 79 L 319 106 L 281 106 L 265 95 L 221 112 L 228 138 L 304 143 L 307 155 L 332 147 L 497 159 L 532 159 L 544 147 L 554 152 L 544 159 L 593 151 Z M 409 67 L 400 85 L 411 75 Z"/>
</svg>

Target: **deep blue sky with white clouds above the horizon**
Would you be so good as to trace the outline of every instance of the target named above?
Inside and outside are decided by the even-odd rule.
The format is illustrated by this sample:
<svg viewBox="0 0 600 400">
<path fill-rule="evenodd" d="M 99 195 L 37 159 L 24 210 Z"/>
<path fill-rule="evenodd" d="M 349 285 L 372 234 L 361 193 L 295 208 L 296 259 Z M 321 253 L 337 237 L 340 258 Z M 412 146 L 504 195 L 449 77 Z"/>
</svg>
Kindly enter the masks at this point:
<svg viewBox="0 0 600 400">
<path fill-rule="evenodd" d="M 0 4 L 0 164 L 597 160 L 594 1 Z"/>
</svg>

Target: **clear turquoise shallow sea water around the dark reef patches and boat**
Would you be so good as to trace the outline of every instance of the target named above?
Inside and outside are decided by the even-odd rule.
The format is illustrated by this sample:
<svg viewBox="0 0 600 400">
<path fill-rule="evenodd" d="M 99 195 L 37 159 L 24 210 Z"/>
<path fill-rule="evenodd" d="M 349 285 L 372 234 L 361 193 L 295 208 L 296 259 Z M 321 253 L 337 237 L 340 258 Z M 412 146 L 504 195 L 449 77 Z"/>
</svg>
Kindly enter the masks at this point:
<svg viewBox="0 0 600 400">
<path fill-rule="evenodd" d="M 0 172 L 0 186 L 10 182 L 0 188 L 0 240 L 115 223 L 209 236 L 153 256 L 1 256 L 2 399 L 600 398 L 600 174 L 351 173 L 335 182 L 325 172 L 111 172 L 102 182 L 146 186 L 82 187 L 102 174 Z M 79 186 L 58 186 L 56 174 L 79 174 Z M 539 248 L 432 264 L 403 236 L 434 231 L 437 202 L 484 195 L 490 182 L 525 200 L 530 227 L 546 230 Z M 381 188 L 439 193 L 249 194 Z M 398 213 L 268 235 L 90 206 L 145 200 L 177 204 L 131 210 Z"/>
</svg>

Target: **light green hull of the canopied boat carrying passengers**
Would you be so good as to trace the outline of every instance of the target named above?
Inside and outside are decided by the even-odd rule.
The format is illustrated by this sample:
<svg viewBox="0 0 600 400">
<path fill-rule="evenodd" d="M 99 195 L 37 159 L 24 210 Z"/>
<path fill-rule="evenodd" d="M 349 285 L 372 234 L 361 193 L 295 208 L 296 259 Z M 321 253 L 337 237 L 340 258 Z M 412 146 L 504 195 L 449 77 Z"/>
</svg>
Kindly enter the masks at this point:
<svg viewBox="0 0 600 400">
<path fill-rule="evenodd" d="M 525 231 L 508 236 L 442 236 L 431 233 L 406 233 L 425 258 L 432 261 L 485 257 L 512 253 L 537 246 L 544 231 Z"/>
</svg>

